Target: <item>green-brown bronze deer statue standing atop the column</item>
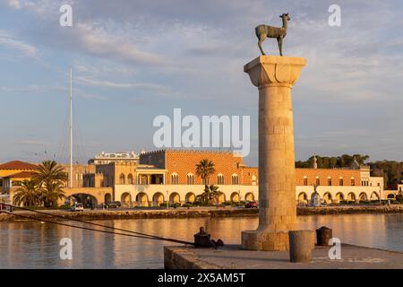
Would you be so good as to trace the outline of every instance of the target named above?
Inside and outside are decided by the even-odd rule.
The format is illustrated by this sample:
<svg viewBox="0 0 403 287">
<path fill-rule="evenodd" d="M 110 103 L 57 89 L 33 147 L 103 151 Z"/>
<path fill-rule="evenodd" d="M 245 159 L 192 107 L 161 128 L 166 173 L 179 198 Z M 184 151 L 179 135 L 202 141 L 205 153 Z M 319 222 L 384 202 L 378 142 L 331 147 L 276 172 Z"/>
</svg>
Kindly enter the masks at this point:
<svg viewBox="0 0 403 287">
<path fill-rule="evenodd" d="M 272 27 L 269 25 L 259 25 L 254 30 L 256 32 L 256 36 L 259 39 L 258 46 L 261 49 L 262 55 L 266 55 L 262 49 L 262 42 L 266 38 L 276 38 L 277 43 L 279 44 L 279 53 L 280 56 L 283 56 L 283 39 L 286 38 L 287 35 L 287 22 L 291 20 L 289 18 L 288 13 L 283 13 L 280 15 L 280 18 L 283 19 L 283 27 Z"/>
</svg>

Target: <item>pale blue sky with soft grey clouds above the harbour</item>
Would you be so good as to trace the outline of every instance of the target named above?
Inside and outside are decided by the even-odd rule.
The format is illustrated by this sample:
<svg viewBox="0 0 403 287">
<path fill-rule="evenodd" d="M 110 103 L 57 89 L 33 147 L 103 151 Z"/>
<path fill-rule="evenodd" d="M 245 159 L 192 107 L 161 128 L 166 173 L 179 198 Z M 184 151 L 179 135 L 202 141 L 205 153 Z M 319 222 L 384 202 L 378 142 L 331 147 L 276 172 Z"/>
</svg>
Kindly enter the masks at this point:
<svg viewBox="0 0 403 287">
<path fill-rule="evenodd" d="M 73 26 L 62 27 L 62 4 Z M 331 4 L 341 26 L 330 27 Z M 251 117 L 257 165 L 257 89 L 244 64 L 260 52 L 254 27 L 280 26 L 283 53 L 305 57 L 293 88 L 296 160 L 362 153 L 403 161 L 403 3 L 262 0 L 0 0 L 0 162 L 155 150 L 153 119 Z M 277 43 L 263 44 L 278 55 Z"/>
</svg>

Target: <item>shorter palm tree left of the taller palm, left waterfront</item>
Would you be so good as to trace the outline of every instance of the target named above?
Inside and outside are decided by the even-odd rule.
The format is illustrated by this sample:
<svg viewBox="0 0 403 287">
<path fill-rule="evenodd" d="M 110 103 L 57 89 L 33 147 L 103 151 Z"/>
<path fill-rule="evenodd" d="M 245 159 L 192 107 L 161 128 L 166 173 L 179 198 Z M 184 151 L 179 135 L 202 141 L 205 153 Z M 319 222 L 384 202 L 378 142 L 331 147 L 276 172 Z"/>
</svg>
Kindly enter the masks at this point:
<svg viewBox="0 0 403 287">
<path fill-rule="evenodd" d="M 21 182 L 21 187 L 15 190 L 13 205 L 35 206 L 40 202 L 40 192 L 36 180 L 25 179 Z"/>
</svg>

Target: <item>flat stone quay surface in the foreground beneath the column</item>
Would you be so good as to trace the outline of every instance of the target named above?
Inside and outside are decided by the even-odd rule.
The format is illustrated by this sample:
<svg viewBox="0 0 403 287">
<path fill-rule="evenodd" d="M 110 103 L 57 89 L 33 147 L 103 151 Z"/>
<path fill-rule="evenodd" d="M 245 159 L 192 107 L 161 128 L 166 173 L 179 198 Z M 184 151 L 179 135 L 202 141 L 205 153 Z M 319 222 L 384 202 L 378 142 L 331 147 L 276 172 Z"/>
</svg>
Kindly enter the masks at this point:
<svg viewBox="0 0 403 287">
<path fill-rule="evenodd" d="M 316 247 L 311 263 L 291 263 L 286 251 L 243 250 L 228 245 L 211 248 L 166 247 L 164 260 L 171 269 L 403 269 L 403 253 L 353 245 L 341 246 L 341 259 L 330 260 L 330 247 Z"/>
</svg>

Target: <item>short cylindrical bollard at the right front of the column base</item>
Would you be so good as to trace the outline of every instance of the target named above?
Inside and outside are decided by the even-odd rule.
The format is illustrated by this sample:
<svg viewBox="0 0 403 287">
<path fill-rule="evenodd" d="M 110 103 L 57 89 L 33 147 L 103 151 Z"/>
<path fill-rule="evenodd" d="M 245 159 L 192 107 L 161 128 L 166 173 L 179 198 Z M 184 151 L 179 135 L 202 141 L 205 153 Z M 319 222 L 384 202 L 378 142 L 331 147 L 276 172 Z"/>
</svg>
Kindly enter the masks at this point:
<svg viewBox="0 0 403 287">
<path fill-rule="evenodd" d="M 289 261 L 291 262 L 311 262 L 312 230 L 291 230 L 288 231 L 289 239 Z"/>
</svg>

